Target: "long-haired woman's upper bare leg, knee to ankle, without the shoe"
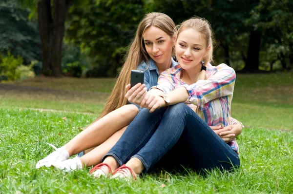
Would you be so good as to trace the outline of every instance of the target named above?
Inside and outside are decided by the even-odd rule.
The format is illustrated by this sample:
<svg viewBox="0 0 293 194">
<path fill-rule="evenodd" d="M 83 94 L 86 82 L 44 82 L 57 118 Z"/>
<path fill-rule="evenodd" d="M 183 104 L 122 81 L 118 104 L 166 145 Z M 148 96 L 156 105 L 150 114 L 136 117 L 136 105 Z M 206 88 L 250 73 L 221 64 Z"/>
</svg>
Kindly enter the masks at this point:
<svg viewBox="0 0 293 194">
<path fill-rule="evenodd" d="M 69 155 L 75 155 L 102 144 L 115 132 L 129 125 L 138 112 L 138 108 L 132 104 L 112 111 L 71 139 L 65 144 L 65 149 Z"/>
</svg>

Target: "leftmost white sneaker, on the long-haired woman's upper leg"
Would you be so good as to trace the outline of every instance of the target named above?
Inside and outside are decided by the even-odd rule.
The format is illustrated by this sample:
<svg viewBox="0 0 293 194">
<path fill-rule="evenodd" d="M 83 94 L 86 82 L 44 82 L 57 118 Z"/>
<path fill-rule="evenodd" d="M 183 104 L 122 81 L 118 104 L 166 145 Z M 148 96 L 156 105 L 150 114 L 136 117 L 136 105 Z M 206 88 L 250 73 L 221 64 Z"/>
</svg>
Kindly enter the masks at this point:
<svg viewBox="0 0 293 194">
<path fill-rule="evenodd" d="M 40 160 L 36 164 L 36 169 L 41 168 L 42 166 L 50 167 L 55 162 L 62 162 L 69 158 L 69 153 L 65 150 L 65 146 L 56 149 L 56 151 L 52 152 L 50 155 Z"/>
</svg>

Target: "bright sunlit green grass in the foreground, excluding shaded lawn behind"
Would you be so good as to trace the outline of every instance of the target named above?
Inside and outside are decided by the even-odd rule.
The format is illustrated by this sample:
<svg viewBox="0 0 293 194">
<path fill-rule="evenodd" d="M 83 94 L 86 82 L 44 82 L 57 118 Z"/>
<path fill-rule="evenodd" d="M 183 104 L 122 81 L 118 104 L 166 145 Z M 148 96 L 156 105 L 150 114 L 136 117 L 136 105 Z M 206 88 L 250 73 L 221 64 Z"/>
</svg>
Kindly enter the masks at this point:
<svg viewBox="0 0 293 194">
<path fill-rule="evenodd" d="M 36 170 L 52 152 L 87 125 L 93 115 L 0 109 L 0 193 L 292 193 L 293 133 L 245 129 L 238 138 L 241 167 L 235 172 L 211 171 L 202 176 L 165 172 L 133 182 L 94 179 L 88 169 L 63 173 Z M 66 120 L 63 119 L 66 117 Z"/>
</svg>

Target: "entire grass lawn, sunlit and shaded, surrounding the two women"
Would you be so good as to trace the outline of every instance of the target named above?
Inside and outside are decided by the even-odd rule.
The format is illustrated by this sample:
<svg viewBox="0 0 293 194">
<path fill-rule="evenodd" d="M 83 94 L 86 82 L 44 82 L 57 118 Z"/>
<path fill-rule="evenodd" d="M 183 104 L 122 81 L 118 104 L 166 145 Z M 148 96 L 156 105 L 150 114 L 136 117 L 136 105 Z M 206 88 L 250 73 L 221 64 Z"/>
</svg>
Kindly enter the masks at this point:
<svg viewBox="0 0 293 194">
<path fill-rule="evenodd" d="M 62 146 L 101 112 L 113 79 L 5 83 L 22 90 L 0 85 L 0 193 L 293 193 L 292 74 L 236 79 L 231 113 L 246 126 L 237 139 L 239 170 L 214 170 L 207 176 L 162 171 L 131 183 L 94 179 L 89 169 L 63 173 L 34 168 L 53 151 L 46 142 Z"/>
</svg>

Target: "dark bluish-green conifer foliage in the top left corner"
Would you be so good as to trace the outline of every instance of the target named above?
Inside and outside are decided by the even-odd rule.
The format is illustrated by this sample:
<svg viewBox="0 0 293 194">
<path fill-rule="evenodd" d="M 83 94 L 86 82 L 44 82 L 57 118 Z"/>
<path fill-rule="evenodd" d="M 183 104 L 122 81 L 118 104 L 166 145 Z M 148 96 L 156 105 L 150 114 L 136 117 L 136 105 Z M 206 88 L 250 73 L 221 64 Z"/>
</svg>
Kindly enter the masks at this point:
<svg viewBox="0 0 293 194">
<path fill-rule="evenodd" d="M 41 60 L 41 41 L 36 21 L 28 19 L 30 11 L 17 0 L 0 2 L 0 50 L 20 55 L 25 64 Z"/>
</svg>

